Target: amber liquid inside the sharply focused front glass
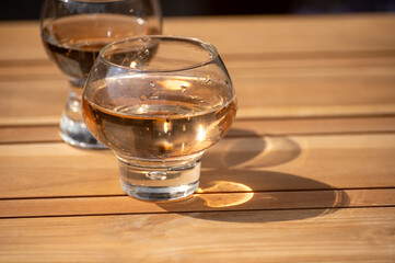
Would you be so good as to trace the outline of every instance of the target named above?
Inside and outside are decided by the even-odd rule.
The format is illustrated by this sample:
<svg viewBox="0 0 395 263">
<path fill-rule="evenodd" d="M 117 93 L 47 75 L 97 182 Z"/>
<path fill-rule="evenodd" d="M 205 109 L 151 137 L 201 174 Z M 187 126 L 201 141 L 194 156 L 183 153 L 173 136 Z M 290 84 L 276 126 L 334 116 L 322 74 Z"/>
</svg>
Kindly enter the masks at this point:
<svg viewBox="0 0 395 263">
<path fill-rule="evenodd" d="M 177 158 L 204 151 L 229 130 L 236 101 L 225 83 L 126 77 L 83 95 L 88 128 L 124 158 Z"/>
</svg>

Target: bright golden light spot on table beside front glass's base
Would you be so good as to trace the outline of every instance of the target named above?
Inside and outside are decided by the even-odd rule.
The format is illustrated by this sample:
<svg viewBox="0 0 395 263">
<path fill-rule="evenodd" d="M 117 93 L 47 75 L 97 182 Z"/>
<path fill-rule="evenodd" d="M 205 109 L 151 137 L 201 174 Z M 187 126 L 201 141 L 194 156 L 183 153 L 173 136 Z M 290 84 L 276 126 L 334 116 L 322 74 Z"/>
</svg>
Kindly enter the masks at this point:
<svg viewBox="0 0 395 263">
<path fill-rule="evenodd" d="M 254 193 L 253 190 L 249 188 L 245 184 L 234 183 L 234 182 L 226 182 L 226 181 L 214 181 L 212 182 L 214 185 L 212 187 L 206 188 L 205 192 L 216 193 L 216 192 L 223 192 L 224 190 L 234 188 L 236 192 L 230 195 L 223 194 L 197 194 L 197 197 L 200 197 L 205 201 L 205 205 L 208 207 L 230 207 L 230 206 L 237 206 L 244 203 L 247 203 L 251 198 L 253 198 Z M 197 193 L 202 193 L 201 188 L 198 188 Z"/>
</svg>

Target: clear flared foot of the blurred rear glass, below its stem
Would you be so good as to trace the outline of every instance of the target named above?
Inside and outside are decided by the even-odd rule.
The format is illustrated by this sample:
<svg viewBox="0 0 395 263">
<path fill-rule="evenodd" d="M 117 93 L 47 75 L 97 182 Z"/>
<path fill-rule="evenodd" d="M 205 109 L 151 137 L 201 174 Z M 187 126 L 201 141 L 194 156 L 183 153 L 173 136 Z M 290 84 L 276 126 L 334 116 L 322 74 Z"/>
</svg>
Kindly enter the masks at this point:
<svg viewBox="0 0 395 263">
<path fill-rule="evenodd" d="M 82 149 L 106 149 L 86 128 L 84 122 L 68 118 L 65 114 L 60 121 L 60 137 L 69 145 Z"/>
</svg>

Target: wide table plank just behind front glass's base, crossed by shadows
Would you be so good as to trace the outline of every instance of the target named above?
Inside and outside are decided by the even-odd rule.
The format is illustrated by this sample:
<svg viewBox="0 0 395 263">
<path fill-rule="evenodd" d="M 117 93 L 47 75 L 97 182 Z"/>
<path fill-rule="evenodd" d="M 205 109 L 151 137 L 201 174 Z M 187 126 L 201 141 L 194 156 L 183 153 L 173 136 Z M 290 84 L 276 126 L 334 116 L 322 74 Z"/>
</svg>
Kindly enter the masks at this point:
<svg viewBox="0 0 395 263">
<path fill-rule="evenodd" d="M 229 138 L 202 159 L 202 192 L 393 187 L 395 135 Z M 0 197 L 119 195 L 108 150 L 66 144 L 0 146 Z"/>
</svg>

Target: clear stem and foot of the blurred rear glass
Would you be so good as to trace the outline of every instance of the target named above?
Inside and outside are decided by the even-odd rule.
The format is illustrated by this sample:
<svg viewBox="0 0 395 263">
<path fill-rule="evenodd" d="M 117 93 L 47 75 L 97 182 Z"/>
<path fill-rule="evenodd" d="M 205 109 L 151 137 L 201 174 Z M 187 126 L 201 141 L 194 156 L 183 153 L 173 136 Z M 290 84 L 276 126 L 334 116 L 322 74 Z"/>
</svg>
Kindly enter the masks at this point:
<svg viewBox="0 0 395 263">
<path fill-rule="evenodd" d="M 79 148 L 106 148 L 92 136 L 82 119 L 81 92 L 82 88 L 70 89 L 60 121 L 59 134 L 67 144 Z"/>
</svg>

